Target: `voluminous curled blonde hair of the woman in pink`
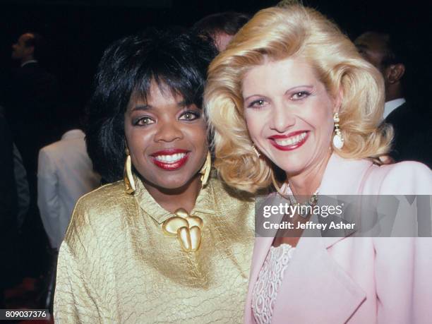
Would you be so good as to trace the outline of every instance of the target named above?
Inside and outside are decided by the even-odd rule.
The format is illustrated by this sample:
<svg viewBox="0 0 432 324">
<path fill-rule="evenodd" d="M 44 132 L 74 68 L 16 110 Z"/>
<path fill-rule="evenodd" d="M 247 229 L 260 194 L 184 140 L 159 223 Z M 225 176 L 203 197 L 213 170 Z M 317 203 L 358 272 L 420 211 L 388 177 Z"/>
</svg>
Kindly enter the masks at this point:
<svg viewBox="0 0 432 324">
<path fill-rule="evenodd" d="M 208 71 L 204 107 L 215 167 L 230 186 L 253 193 L 271 181 L 272 164 L 256 155 L 246 128 L 244 75 L 268 59 L 294 56 L 311 64 L 330 95 L 342 90 L 339 116 L 344 147 L 333 148 L 338 155 L 377 160 L 390 150 L 392 128 L 381 123 L 384 82 L 379 71 L 318 11 L 299 4 L 267 8 L 244 25 Z"/>
</svg>

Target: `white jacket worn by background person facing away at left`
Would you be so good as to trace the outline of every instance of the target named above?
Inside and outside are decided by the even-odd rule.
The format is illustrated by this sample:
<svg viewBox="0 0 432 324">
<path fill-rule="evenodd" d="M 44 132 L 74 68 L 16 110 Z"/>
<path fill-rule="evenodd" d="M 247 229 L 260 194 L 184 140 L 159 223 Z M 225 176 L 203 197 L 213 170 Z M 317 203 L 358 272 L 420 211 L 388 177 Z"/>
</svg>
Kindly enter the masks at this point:
<svg viewBox="0 0 432 324">
<path fill-rule="evenodd" d="M 78 198 L 99 184 L 80 129 L 67 131 L 40 150 L 37 205 L 52 248 L 59 250 Z"/>
</svg>

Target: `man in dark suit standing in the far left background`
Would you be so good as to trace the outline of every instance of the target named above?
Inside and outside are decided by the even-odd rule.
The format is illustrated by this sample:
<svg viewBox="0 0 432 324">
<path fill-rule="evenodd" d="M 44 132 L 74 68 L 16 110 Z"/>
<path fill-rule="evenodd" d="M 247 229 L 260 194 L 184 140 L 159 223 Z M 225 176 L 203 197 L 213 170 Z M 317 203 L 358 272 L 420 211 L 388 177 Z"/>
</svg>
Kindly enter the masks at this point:
<svg viewBox="0 0 432 324">
<path fill-rule="evenodd" d="M 27 32 L 12 45 L 12 59 L 17 69 L 11 85 L 7 108 L 8 120 L 27 169 L 30 181 L 35 180 L 37 154 L 42 146 L 52 141 L 49 121 L 53 120 L 56 104 L 56 78 L 40 65 L 39 54 L 43 39 L 35 32 Z M 33 181 L 32 181 L 33 182 Z"/>
</svg>

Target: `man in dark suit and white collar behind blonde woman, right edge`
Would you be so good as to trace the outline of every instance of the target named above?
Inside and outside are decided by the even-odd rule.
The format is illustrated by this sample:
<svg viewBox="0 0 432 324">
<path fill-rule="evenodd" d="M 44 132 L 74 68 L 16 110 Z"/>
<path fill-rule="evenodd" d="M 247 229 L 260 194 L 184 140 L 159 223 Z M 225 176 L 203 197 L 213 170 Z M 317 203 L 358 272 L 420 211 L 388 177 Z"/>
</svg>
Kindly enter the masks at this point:
<svg viewBox="0 0 432 324">
<path fill-rule="evenodd" d="M 354 41 L 359 52 L 378 68 L 385 83 L 383 118 L 395 131 L 390 156 L 395 162 L 414 160 L 432 167 L 431 114 L 419 112 L 404 98 L 404 44 L 383 32 L 365 32 Z"/>
</svg>

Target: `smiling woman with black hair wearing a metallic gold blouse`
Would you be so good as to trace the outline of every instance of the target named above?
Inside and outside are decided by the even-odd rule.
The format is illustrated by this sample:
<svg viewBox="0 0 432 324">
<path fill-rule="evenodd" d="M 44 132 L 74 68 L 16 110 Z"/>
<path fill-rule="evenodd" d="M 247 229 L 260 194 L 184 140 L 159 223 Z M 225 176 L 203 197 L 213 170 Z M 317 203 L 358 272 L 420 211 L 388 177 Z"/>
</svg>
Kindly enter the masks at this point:
<svg viewBox="0 0 432 324">
<path fill-rule="evenodd" d="M 59 252 L 59 323 L 239 323 L 253 204 L 210 174 L 203 88 L 211 44 L 148 30 L 104 53 L 83 196 Z M 126 160 L 126 163 L 125 163 Z"/>
</svg>

